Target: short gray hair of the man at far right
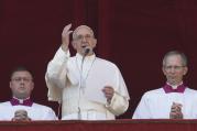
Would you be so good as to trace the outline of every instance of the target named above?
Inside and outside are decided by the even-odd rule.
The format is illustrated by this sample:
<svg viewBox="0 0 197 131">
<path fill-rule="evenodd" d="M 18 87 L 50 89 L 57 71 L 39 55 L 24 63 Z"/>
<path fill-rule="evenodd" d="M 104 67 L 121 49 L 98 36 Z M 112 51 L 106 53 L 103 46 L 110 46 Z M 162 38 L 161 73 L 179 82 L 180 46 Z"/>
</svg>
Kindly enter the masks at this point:
<svg viewBox="0 0 197 131">
<path fill-rule="evenodd" d="M 179 55 L 182 57 L 182 64 L 183 66 L 187 66 L 187 57 L 183 52 L 179 51 L 171 51 L 167 52 L 163 58 L 163 66 L 166 64 L 166 58 L 172 55 Z"/>
</svg>

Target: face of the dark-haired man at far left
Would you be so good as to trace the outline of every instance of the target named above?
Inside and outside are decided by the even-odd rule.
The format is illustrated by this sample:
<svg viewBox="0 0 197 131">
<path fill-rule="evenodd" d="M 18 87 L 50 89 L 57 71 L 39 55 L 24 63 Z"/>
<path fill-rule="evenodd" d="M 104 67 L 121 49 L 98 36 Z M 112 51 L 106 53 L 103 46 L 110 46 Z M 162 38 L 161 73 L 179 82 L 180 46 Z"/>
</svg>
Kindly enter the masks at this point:
<svg viewBox="0 0 197 131">
<path fill-rule="evenodd" d="M 10 80 L 10 88 L 13 97 L 19 99 L 29 98 L 34 88 L 32 75 L 26 70 L 13 73 Z"/>
</svg>

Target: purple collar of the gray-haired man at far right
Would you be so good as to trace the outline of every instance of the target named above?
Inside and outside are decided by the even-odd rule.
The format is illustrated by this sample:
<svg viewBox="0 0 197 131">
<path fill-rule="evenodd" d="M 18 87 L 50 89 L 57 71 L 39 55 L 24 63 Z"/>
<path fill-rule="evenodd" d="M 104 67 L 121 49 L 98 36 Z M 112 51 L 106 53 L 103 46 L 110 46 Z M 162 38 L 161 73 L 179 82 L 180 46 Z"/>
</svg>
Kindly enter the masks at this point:
<svg viewBox="0 0 197 131">
<path fill-rule="evenodd" d="M 165 94 L 169 94 L 169 92 L 184 92 L 185 91 L 186 86 L 182 83 L 179 86 L 177 86 L 176 89 L 174 89 L 169 84 L 165 84 L 165 86 L 163 87 Z"/>
</svg>

